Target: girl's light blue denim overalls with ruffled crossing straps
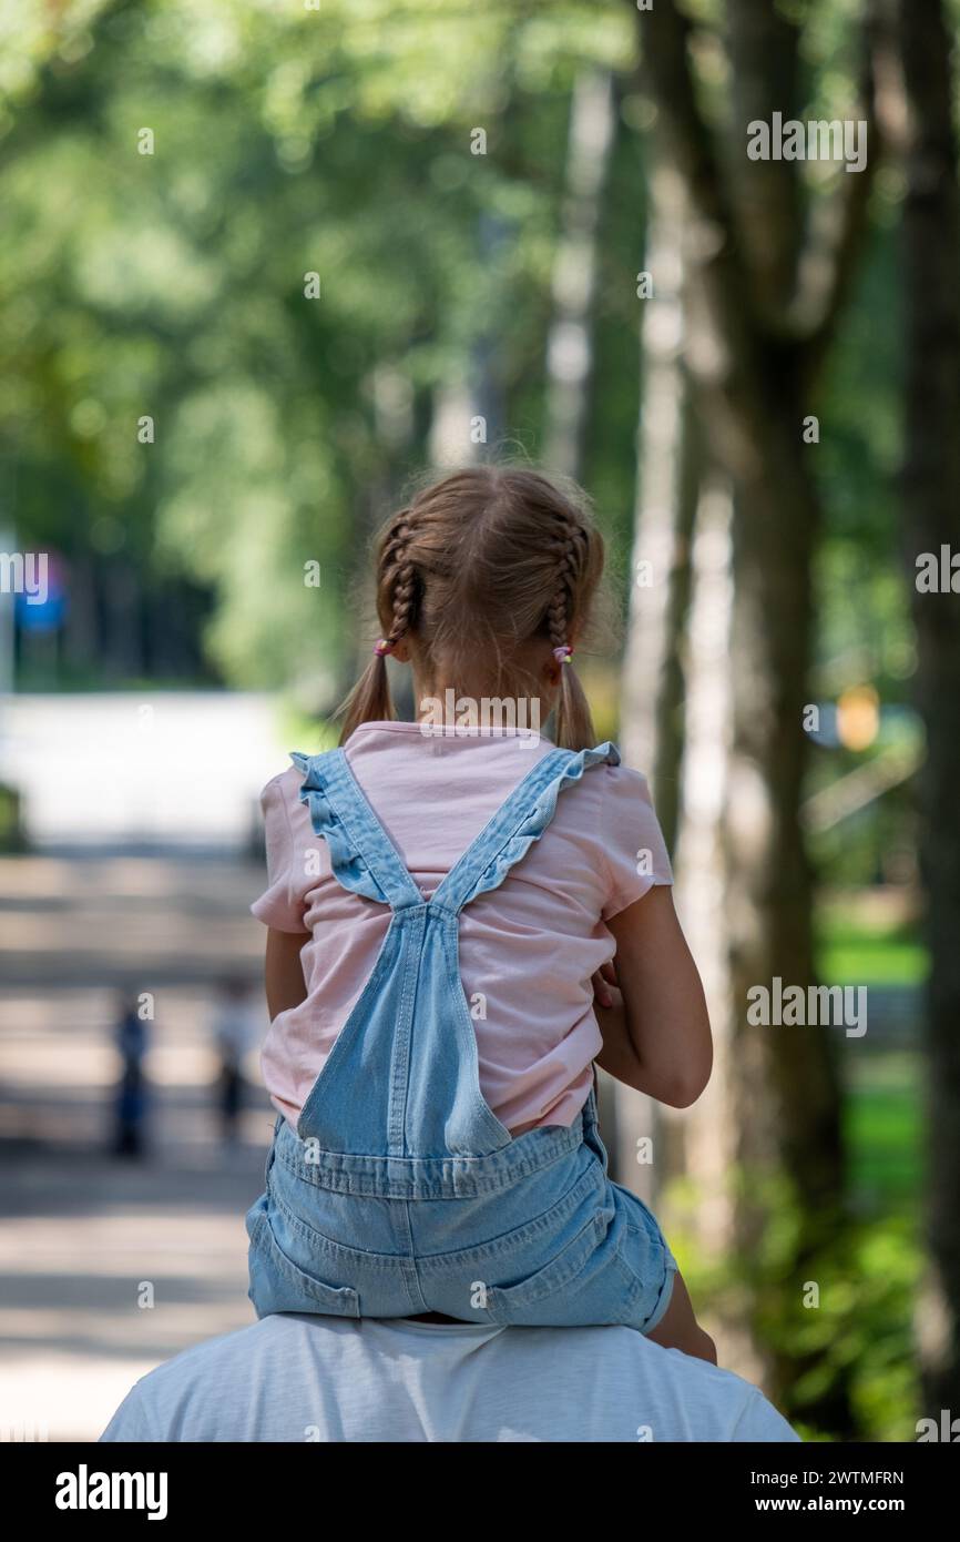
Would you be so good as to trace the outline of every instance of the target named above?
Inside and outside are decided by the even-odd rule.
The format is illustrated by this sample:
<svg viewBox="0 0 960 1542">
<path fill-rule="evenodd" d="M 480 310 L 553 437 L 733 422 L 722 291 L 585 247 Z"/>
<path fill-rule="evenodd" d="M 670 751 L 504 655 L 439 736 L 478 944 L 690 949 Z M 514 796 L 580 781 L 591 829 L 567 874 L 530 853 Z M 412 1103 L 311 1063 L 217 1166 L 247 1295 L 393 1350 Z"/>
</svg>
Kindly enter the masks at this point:
<svg viewBox="0 0 960 1542">
<path fill-rule="evenodd" d="M 649 1332 L 676 1263 L 646 1204 L 607 1177 L 595 1089 L 569 1127 L 513 1138 L 481 1095 L 458 967 L 464 905 L 525 856 L 559 793 L 618 751 L 538 760 L 428 901 L 344 751 L 291 759 L 334 877 L 391 921 L 296 1133 L 276 1121 L 267 1192 L 247 1215 L 257 1317 L 436 1311 Z"/>
</svg>

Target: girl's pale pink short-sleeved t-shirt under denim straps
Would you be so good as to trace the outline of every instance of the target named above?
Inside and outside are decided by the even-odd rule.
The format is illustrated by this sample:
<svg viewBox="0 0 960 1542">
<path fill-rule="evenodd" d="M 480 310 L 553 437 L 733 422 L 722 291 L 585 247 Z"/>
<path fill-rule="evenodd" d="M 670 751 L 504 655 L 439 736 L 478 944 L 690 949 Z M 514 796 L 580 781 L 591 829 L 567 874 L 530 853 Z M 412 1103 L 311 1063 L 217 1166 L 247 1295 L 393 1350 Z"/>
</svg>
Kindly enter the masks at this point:
<svg viewBox="0 0 960 1542">
<path fill-rule="evenodd" d="M 510 731 L 427 737 L 418 723 L 362 723 L 345 745 L 425 897 L 553 748 Z M 307 998 L 273 1019 L 262 1055 L 271 1101 L 294 1127 L 390 925 L 387 905 L 333 877 L 300 785 L 291 766 L 263 788 L 270 887 L 251 905 L 268 927 L 310 939 L 300 953 Z M 512 1133 L 576 1118 L 603 1047 L 590 979 L 615 953 L 606 922 L 672 880 L 646 777 L 599 765 L 561 791 L 542 837 L 502 884 L 461 911 L 481 1092 Z"/>
</svg>

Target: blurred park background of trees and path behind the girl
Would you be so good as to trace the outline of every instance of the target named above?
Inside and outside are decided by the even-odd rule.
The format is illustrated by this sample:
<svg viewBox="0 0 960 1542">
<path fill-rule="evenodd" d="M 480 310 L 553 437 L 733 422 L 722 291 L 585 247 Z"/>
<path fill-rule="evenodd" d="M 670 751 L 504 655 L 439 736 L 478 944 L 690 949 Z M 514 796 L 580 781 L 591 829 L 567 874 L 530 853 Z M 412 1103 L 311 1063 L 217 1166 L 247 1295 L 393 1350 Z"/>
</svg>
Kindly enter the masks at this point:
<svg viewBox="0 0 960 1542">
<path fill-rule="evenodd" d="M 336 742 L 376 523 L 504 455 L 595 500 L 581 672 L 717 1035 L 692 1110 L 604 1079 L 615 1175 L 804 1436 L 960 1408 L 957 28 L 8 0 L 6 1439 L 96 1439 L 253 1320 L 257 796 Z M 777 113 L 866 163 L 750 159 Z M 864 988 L 866 1032 L 750 1022 L 775 979 Z"/>
</svg>

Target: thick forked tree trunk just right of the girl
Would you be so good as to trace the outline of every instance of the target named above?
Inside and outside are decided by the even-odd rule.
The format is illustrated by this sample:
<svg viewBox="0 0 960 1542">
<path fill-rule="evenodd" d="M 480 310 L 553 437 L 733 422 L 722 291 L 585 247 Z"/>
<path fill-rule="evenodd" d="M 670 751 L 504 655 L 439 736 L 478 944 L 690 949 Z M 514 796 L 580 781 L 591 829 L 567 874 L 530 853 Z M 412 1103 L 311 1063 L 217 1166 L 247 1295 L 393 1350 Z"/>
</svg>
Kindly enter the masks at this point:
<svg viewBox="0 0 960 1542">
<path fill-rule="evenodd" d="M 814 978 L 800 797 L 820 517 L 809 466 L 815 449 L 804 446 L 803 427 L 846 293 L 868 179 L 840 177 L 837 217 L 804 230 L 795 163 L 746 154 L 750 119 L 769 122 L 774 111 L 789 116 L 797 106 L 800 31 L 755 0 L 729 0 L 726 15 L 730 120 L 723 156 L 693 85 L 690 23 L 673 0 L 658 0 L 638 19 L 658 162 L 683 190 L 684 364 L 709 455 L 732 490 L 726 890 L 712 917 L 726 968 L 710 968 L 712 1021 L 721 1036 L 729 1033 L 729 1055 L 718 1096 L 693 1110 L 687 1127 L 689 1150 L 712 1152 L 703 1166 L 713 1164 L 713 1178 L 724 1149 L 717 1121 L 735 1130 L 732 1177 L 740 1186 L 726 1210 L 729 1254 L 750 1255 L 770 1220 L 764 1180 L 787 1178 L 800 1214 L 784 1289 L 797 1291 L 798 1303 L 804 1260 L 841 1226 L 832 1030 L 754 1027 L 746 1012 L 752 985 L 769 987 L 780 976 L 806 987 Z M 861 89 L 869 103 L 869 69 Z M 718 1215 L 715 1238 L 724 1231 L 723 1207 L 710 1223 Z M 829 1419 L 843 1429 L 846 1417 L 840 1388 Z"/>
</svg>

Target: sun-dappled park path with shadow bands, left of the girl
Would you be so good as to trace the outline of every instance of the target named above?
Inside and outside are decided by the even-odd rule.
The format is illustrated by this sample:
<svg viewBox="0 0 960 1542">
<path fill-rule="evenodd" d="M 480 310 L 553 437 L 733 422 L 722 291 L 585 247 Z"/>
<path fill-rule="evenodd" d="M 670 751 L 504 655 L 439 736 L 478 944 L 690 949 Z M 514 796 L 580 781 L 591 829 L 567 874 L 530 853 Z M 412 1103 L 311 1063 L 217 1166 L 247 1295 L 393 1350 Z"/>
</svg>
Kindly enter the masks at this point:
<svg viewBox="0 0 960 1542">
<path fill-rule="evenodd" d="M 230 859 L 0 859 L 0 1439 L 92 1440 L 145 1371 L 254 1320 L 243 1212 L 273 1121 L 257 1089 L 220 1141 L 208 1012 L 223 962 L 259 975 L 260 888 Z M 120 985 L 156 1002 L 140 1161 L 108 1149 Z"/>
</svg>

